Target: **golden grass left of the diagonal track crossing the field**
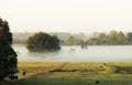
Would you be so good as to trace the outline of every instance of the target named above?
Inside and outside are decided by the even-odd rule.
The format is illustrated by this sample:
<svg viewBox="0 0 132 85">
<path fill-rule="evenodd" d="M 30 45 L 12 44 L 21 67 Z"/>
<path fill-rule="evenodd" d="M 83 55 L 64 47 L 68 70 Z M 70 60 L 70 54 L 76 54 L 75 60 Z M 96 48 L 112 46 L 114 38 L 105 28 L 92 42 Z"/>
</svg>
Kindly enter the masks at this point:
<svg viewBox="0 0 132 85">
<path fill-rule="evenodd" d="M 62 62 L 19 62 L 18 63 L 18 70 L 19 73 L 15 75 L 19 76 L 19 78 L 25 78 L 25 77 L 31 77 L 33 75 L 37 74 L 47 74 L 50 71 L 58 68 L 62 66 Z M 26 75 L 23 76 L 22 73 L 23 71 L 26 72 Z"/>
</svg>

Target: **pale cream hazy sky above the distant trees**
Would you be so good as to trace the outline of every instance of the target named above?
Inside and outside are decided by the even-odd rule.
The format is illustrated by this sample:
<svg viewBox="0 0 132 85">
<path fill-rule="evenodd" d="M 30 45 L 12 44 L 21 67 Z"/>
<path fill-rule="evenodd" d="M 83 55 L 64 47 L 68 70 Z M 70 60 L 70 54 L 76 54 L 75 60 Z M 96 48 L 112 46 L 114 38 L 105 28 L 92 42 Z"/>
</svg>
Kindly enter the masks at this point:
<svg viewBox="0 0 132 85">
<path fill-rule="evenodd" d="M 13 32 L 132 31 L 132 0 L 0 0 Z"/>
</svg>

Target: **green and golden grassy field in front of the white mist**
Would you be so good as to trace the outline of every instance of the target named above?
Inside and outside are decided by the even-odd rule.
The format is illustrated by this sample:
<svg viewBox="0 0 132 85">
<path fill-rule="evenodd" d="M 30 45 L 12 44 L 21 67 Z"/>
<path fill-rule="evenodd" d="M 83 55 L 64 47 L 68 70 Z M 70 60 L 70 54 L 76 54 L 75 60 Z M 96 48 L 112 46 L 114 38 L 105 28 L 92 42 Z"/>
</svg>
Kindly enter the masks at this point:
<svg viewBox="0 0 132 85">
<path fill-rule="evenodd" d="M 96 85 L 96 81 L 100 85 L 132 85 L 132 63 L 19 62 L 18 66 L 14 85 Z"/>
</svg>

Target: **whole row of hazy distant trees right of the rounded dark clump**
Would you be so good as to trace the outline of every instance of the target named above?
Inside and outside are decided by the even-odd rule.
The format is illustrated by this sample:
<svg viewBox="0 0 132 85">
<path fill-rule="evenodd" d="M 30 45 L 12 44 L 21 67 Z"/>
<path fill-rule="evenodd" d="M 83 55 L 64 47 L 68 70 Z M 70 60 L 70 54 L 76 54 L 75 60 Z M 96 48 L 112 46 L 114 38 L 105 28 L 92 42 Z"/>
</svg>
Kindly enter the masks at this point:
<svg viewBox="0 0 132 85">
<path fill-rule="evenodd" d="M 96 36 L 90 36 L 84 41 L 84 39 L 76 39 L 70 36 L 66 41 L 62 42 L 65 45 L 81 45 L 86 42 L 88 45 L 131 45 L 132 32 L 124 34 L 122 31 L 110 31 L 107 33 L 99 33 Z"/>
</svg>

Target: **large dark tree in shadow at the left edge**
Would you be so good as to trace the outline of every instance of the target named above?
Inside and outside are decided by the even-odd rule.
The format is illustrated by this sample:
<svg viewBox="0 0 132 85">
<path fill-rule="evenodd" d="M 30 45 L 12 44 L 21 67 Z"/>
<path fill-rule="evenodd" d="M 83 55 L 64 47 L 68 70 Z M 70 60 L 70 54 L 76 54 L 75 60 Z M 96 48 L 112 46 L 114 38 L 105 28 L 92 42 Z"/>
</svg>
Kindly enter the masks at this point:
<svg viewBox="0 0 132 85">
<path fill-rule="evenodd" d="M 7 21 L 0 19 L 0 77 L 16 72 L 16 53 L 12 49 L 12 33 Z"/>
</svg>

